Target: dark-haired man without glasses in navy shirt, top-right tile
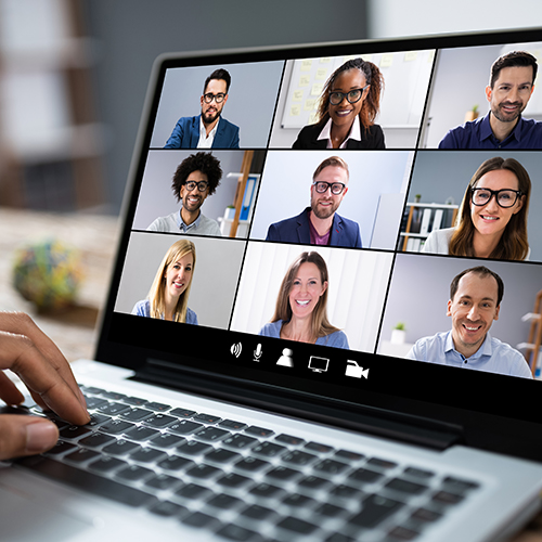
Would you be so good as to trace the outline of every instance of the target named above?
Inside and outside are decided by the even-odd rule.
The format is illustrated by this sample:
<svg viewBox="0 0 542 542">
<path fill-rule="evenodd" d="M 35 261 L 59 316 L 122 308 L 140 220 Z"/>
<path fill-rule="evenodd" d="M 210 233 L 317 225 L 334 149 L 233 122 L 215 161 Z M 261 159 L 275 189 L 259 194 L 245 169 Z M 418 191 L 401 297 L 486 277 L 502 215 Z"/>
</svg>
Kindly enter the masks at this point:
<svg viewBox="0 0 542 542">
<path fill-rule="evenodd" d="M 490 112 L 452 128 L 439 149 L 542 149 L 542 122 L 521 117 L 534 90 L 537 69 L 537 60 L 526 51 L 500 56 L 486 87 Z"/>
</svg>

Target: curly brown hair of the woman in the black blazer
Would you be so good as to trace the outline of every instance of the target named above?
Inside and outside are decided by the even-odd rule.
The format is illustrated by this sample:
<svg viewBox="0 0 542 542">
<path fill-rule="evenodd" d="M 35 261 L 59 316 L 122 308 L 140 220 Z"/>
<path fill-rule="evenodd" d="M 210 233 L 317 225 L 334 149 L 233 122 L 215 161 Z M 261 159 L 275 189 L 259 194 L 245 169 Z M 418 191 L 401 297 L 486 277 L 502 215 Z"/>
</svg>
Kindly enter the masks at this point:
<svg viewBox="0 0 542 542">
<path fill-rule="evenodd" d="M 327 79 L 318 105 L 319 124 L 325 124 L 330 118 L 330 92 L 332 91 L 335 79 L 343 72 L 348 72 L 349 69 L 359 69 L 365 76 L 365 85 L 371 85 L 371 87 L 369 87 L 367 96 L 363 101 L 363 106 L 359 114 L 361 126 L 366 130 L 370 126 L 374 125 L 375 118 L 380 111 L 380 94 L 384 90 L 384 76 L 378 69 L 378 66 L 372 62 L 365 62 L 363 59 L 352 59 L 345 62 L 332 74 L 330 79 Z"/>
</svg>

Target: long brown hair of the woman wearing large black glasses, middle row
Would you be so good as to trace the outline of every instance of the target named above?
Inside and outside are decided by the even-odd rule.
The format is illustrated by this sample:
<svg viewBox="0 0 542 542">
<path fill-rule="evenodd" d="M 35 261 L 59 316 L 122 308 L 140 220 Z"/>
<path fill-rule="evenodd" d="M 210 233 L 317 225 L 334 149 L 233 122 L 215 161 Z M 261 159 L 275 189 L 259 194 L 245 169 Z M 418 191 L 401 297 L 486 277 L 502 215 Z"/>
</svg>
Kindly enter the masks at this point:
<svg viewBox="0 0 542 542">
<path fill-rule="evenodd" d="M 490 258 L 503 260 L 525 260 L 529 253 L 529 243 L 527 240 L 527 216 L 529 212 L 529 197 L 531 193 L 531 180 L 524 166 L 514 158 L 501 158 L 495 156 L 486 160 L 470 179 L 467 190 L 463 196 L 455 231 L 452 234 L 449 246 L 449 254 L 452 256 L 476 256 L 474 254 L 473 241 L 475 227 L 470 218 L 470 197 L 472 189 L 489 171 L 507 169 L 512 171 L 518 182 L 518 190 L 521 192 L 519 197 L 524 197 L 524 205 L 518 212 L 512 215 L 506 228 L 503 231 L 501 240 L 495 249 L 490 254 Z"/>
</svg>

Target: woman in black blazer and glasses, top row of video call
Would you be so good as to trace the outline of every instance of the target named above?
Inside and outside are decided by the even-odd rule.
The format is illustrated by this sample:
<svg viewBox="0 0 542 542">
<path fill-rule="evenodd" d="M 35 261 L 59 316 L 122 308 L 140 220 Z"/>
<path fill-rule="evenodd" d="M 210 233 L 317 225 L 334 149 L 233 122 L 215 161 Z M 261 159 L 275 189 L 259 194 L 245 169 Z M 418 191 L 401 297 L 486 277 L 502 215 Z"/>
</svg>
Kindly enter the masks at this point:
<svg viewBox="0 0 542 542">
<path fill-rule="evenodd" d="M 293 149 L 385 149 L 374 124 L 384 77 L 372 62 L 353 59 L 338 67 L 320 96 L 315 125 L 306 126 Z"/>
</svg>

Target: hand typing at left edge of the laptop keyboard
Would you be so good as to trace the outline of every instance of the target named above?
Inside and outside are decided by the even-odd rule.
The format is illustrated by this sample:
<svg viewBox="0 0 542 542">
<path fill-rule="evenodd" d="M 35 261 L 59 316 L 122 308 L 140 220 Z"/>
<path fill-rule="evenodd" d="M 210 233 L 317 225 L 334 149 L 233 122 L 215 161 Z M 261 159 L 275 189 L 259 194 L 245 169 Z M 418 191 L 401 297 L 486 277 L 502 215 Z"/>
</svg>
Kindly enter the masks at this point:
<svg viewBox="0 0 542 542">
<path fill-rule="evenodd" d="M 3 371 L 11 370 L 33 399 L 75 425 L 90 420 L 85 397 L 68 362 L 54 343 L 22 312 L 0 312 L 0 399 L 15 405 L 24 396 Z M 18 414 L 0 415 L 0 461 L 44 452 L 59 439 L 49 420 Z"/>
</svg>

